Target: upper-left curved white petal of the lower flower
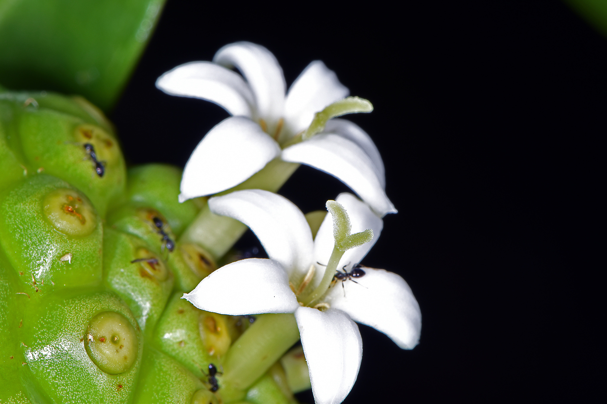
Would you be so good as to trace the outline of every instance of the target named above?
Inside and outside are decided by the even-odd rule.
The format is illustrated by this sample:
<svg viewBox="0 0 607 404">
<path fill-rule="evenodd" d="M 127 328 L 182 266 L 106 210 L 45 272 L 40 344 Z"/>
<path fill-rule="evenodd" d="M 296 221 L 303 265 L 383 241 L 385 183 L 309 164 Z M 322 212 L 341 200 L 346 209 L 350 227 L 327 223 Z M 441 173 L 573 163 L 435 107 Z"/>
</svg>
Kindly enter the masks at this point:
<svg viewBox="0 0 607 404">
<path fill-rule="evenodd" d="M 234 191 L 209 199 L 209 208 L 251 228 L 268 256 L 280 262 L 287 274 L 308 270 L 312 232 L 304 214 L 287 198 L 263 190 Z"/>
</svg>

